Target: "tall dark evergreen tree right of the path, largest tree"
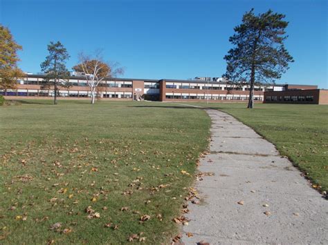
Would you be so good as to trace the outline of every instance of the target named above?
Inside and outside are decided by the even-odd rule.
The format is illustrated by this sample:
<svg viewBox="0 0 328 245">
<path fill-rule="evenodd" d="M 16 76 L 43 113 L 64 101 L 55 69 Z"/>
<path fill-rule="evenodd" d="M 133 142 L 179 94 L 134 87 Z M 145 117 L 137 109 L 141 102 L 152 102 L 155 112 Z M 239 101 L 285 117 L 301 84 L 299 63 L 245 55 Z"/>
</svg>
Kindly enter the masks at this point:
<svg viewBox="0 0 328 245">
<path fill-rule="evenodd" d="M 248 108 L 253 108 L 255 81 L 274 82 L 293 62 L 284 47 L 288 37 L 284 17 L 272 10 L 256 16 L 252 9 L 244 14 L 242 24 L 235 27 L 235 34 L 229 39 L 235 47 L 224 57 L 227 61 L 224 76 L 232 81 L 249 82 Z"/>
</svg>

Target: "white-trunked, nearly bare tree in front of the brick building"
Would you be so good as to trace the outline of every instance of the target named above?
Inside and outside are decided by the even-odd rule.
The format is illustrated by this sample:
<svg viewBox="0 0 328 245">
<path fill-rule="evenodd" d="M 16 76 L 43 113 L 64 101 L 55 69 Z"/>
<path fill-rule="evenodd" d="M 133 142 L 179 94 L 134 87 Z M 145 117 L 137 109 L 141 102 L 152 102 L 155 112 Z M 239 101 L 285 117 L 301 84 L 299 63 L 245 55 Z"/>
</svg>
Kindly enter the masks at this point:
<svg viewBox="0 0 328 245">
<path fill-rule="evenodd" d="M 101 81 L 109 77 L 116 77 L 124 74 L 124 69 L 120 67 L 117 62 L 109 63 L 102 58 L 102 51 L 98 50 L 95 55 L 84 55 L 83 52 L 79 54 L 79 63 L 73 67 L 75 72 L 82 73 L 86 79 L 86 84 L 90 87 L 91 104 L 95 103 L 96 88 Z"/>
</svg>

